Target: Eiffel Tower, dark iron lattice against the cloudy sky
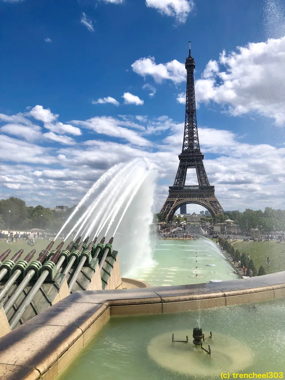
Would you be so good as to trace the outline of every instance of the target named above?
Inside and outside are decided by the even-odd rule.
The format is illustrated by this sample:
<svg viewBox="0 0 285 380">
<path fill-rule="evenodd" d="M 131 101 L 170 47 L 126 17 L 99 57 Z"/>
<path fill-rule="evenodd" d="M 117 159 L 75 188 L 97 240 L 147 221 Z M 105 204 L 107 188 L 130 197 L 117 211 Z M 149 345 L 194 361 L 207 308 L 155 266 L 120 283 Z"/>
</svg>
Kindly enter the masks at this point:
<svg viewBox="0 0 285 380">
<path fill-rule="evenodd" d="M 223 208 L 215 197 L 215 187 L 211 186 L 204 168 L 204 155 L 201 153 L 194 87 L 195 61 L 191 56 L 189 42 L 189 56 L 186 58 L 187 70 L 185 126 L 182 152 L 179 154 L 179 166 L 173 186 L 169 186 L 169 195 L 160 210 L 165 221 L 173 218 L 174 212 L 180 207 L 180 212 L 186 214 L 186 204 L 195 203 L 205 207 L 215 220 L 215 215 L 223 213 Z M 187 169 L 196 169 L 198 185 L 185 186 Z M 183 211 L 183 212 L 182 212 Z"/>
</svg>

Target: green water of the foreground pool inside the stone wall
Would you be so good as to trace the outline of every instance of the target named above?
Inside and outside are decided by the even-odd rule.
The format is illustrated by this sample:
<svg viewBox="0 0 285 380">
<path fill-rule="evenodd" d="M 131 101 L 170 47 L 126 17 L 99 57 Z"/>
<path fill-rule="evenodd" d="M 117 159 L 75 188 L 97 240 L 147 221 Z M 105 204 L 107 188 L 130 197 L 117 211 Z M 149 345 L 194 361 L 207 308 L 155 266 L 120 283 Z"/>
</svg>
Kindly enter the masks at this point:
<svg viewBox="0 0 285 380">
<path fill-rule="evenodd" d="M 232 372 L 283 372 L 284 313 L 280 298 L 184 313 L 111 317 L 60 380 L 194 380 L 217 379 L 221 372 L 229 372 L 230 378 Z M 192 329 L 198 325 L 205 336 L 213 333 L 211 356 L 193 347 Z M 188 334 L 189 342 L 171 343 L 172 332 L 181 340 Z"/>
</svg>

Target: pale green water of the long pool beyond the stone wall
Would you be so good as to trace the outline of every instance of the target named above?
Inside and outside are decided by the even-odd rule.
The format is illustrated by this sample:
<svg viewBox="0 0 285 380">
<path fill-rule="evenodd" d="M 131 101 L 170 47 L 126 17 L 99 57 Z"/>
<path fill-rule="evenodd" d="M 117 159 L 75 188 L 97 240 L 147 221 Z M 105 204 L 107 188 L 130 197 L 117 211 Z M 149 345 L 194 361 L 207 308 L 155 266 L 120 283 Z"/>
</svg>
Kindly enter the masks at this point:
<svg viewBox="0 0 285 380">
<path fill-rule="evenodd" d="M 217 244 L 209 239 L 154 240 L 153 263 L 137 269 L 129 277 L 152 286 L 185 285 L 237 279 Z M 214 265 L 213 265 L 214 264 Z"/>
</svg>

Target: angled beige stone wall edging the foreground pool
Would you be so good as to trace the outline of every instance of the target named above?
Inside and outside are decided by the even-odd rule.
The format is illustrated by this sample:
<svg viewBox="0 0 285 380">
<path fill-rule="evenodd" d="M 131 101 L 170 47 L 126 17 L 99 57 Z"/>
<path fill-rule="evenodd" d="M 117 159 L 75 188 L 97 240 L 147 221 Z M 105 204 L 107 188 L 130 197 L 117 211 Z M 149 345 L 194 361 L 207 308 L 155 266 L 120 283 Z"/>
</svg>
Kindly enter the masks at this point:
<svg viewBox="0 0 285 380">
<path fill-rule="evenodd" d="M 219 283 L 77 291 L 0 339 L 0 378 L 54 379 L 112 315 L 205 309 L 284 295 L 285 272 Z"/>
</svg>

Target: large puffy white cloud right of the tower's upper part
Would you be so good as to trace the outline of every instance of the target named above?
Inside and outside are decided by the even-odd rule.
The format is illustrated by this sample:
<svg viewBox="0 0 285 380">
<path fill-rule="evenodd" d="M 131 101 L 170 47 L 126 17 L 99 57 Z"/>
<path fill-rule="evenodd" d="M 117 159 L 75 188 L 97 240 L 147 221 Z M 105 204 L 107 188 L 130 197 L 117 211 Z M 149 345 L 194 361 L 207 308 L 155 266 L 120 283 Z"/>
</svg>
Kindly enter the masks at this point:
<svg viewBox="0 0 285 380">
<path fill-rule="evenodd" d="M 196 100 L 228 105 L 233 116 L 248 112 L 285 123 L 285 36 L 225 51 L 209 61 L 195 84 Z M 226 67 L 220 71 L 219 65 Z"/>
</svg>

